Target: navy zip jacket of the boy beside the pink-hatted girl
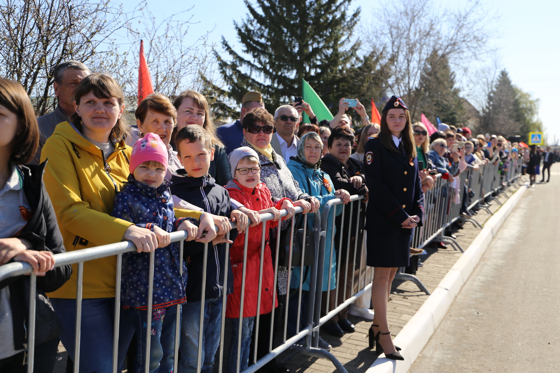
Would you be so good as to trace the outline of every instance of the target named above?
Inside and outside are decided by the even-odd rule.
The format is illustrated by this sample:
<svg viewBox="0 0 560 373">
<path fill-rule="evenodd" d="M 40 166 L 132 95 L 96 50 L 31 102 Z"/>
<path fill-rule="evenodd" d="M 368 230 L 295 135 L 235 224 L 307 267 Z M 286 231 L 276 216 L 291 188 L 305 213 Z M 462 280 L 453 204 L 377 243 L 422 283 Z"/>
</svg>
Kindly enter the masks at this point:
<svg viewBox="0 0 560 373">
<path fill-rule="evenodd" d="M 207 213 L 219 216 L 231 215 L 230 194 L 227 190 L 216 185 L 214 178 L 186 176 L 184 168 L 178 169 L 171 177 L 171 194 L 181 200 L 200 207 Z M 230 239 L 237 237 L 237 230 L 232 229 Z M 189 272 L 189 281 L 186 286 L 186 301 L 199 301 L 202 299 L 202 273 L 204 259 L 204 244 L 200 242 L 187 242 L 184 245 L 183 257 Z M 232 292 L 233 273 L 230 258 L 226 258 L 226 244 L 208 244 L 208 257 L 206 263 L 206 299 L 219 298 L 224 295 L 223 278 L 227 266 L 226 295 Z"/>
</svg>

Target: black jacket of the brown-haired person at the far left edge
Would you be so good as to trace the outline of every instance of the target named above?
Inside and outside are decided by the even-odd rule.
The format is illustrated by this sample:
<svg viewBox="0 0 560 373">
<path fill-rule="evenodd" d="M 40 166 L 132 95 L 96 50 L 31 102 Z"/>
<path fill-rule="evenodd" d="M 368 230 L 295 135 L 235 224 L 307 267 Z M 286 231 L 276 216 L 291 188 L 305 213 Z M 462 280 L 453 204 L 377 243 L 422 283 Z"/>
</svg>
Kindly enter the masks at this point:
<svg viewBox="0 0 560 373">
<path fill-rule="evenodd" d="M 31 207 L 30 218 L 14 237 L 28 240 L 36 251 L 53 254 L 66 252 L 53 205 L 43 184 L 46 162 L 39 165 L 17 166 L 24 175 L 24 193 Z M 13 262 L 13 259 L 12 261 Z M 37 277 L 35 343 L 40 344 L 57 337 L 62 329 L 45 292 L 57 290 L 72 275 L 72 266 L 56 267 L 45 276 Z M 27 343 L 29 325 L 29 276 L 11 277 L 0 283 L 0 288 L 10 287 L 13 318 L 13 343 L 16 350 Z"/>
</svg>

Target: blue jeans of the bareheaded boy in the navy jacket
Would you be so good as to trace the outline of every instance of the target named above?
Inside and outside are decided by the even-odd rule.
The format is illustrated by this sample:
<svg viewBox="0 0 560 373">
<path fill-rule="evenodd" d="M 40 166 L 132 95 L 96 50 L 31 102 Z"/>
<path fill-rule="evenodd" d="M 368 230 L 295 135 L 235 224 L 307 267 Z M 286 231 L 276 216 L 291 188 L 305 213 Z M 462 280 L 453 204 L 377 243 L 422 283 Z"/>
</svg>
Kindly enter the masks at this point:
<svg viewBox="0 0 560 373">
<path fill-rule="evenodd" d="M 220 345 L 222 327 L 222 297 L 204 300 L 204 323 L 202 327 L 201 373 L 212 373 L 214 356 Z M 198 333 L 200 330 L 200 301 L 187 302 L 181 307 L 181 360 L 180 373 L 196 373 Z"/>
</svg>

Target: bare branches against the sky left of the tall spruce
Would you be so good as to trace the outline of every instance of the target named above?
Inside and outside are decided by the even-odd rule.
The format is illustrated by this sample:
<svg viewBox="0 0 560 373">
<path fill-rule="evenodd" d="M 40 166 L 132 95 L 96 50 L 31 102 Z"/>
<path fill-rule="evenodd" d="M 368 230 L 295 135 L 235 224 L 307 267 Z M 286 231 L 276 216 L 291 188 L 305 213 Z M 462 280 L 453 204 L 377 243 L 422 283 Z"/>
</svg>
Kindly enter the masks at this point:
<svg viewBox="0 0 560 373">
<path fill-rule="evenodd" d="M 156 91 L 172 96 L 186 88 L 200 90 L 200 74 L 212 77 L 210 31 L 188 34 L 196 23 L 187 14 L 192 8 L 157 23 L 145 0 L 129 12 L 110 0 L 2 1 L 0 75 L 25 87 L 37 115 L 56 106 L 54 67 L 69 59 L 112 74 L 136 106 L 141 39 Z"/>
</svg>

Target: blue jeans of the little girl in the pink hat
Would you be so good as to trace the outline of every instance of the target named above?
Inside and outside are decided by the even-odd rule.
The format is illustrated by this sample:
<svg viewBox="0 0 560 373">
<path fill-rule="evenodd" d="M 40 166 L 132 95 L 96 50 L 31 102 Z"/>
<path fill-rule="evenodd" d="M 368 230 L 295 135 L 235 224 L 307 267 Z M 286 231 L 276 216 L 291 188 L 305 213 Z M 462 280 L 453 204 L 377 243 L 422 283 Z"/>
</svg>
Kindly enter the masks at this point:
<svg viewBox="0 0 560 373">
<path fill-rule="evenodd" d="M 146 353 L 150 355 L 150 373 L 173 372 L 173 354 L 175 349 L 176 306 L 152 310 L 150 328 L 150 352 L 146 351 L 147 310 L 129 308 L 122 311 L 128 314 L 137 335 L 137 352 L 134 357 L 134 373 L 143 373 L 146 369 Z M 165 321 L 164 321 L 165 319 Z"/>
</svg>

